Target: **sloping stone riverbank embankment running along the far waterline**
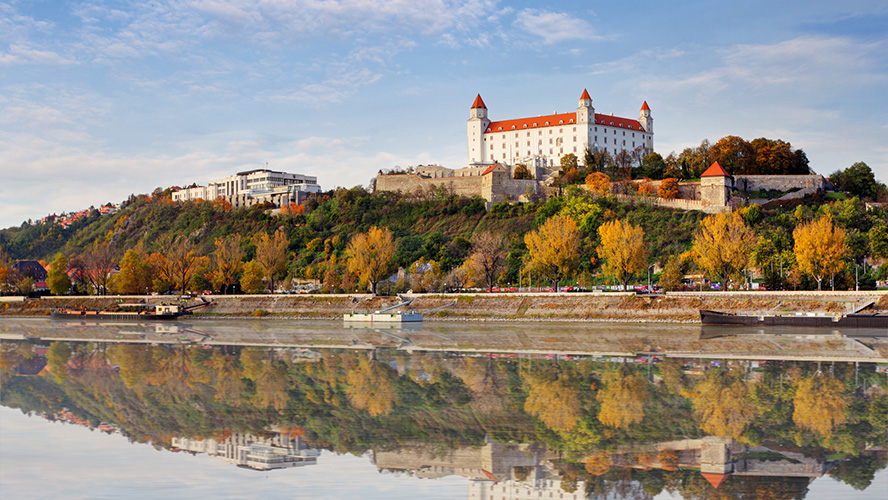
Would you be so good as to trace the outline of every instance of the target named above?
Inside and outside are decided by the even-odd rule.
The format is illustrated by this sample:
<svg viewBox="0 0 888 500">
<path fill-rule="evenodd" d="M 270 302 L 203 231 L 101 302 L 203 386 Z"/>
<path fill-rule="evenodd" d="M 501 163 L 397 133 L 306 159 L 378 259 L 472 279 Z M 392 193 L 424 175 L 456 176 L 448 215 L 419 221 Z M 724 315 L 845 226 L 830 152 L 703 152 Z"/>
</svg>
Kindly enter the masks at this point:
<svg viewBox="0 0 888 500">
<path fill-rule="evenodd" d="M 888 312 L 888 291 L 867 292 L 673 292 L 416 294 L 409 309 L 427 321 L 626 321 L 699 323 L 700 309 L 746 314 L 774 312 L 851 312 L 870 302 L 868 311 Z M 212 305 L 192 318 L 339 319 L 343 314 L 374 311 L 400 302 L 396 297 L 352 295 L 215 295 Z M 46 316 L 54 307 L 113 308 L 139 300 L 159 303 L 164 296 L 3 297 L 0 316 Z"/>
</svg>

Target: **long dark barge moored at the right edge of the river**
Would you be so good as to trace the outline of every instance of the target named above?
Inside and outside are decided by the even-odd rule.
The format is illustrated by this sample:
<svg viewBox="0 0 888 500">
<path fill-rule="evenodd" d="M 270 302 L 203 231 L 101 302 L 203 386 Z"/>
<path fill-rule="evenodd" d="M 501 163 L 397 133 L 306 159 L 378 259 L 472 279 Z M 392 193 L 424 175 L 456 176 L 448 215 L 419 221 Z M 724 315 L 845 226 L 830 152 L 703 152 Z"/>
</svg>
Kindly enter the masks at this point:
<svg viewBox="0 0 888 500">
<path fill-rule="evenodd" d="M 842 316 L 748 316 L 700 309 L 704 325 L 806 326 L 821 328 L 886 328 L 888 314 L 845 314 Z"/>
</svg>

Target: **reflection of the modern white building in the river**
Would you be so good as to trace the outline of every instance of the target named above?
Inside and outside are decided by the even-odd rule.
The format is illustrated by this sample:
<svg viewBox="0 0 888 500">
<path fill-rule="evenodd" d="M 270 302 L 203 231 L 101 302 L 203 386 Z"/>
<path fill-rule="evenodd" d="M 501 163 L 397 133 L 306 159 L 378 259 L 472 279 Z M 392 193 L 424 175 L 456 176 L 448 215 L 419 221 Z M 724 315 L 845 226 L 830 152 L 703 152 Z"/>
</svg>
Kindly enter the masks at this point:
<svg viewBox="0 0 888 500">
<path fill-rule="evenodd" d="M 224 440 L 173 438 L 173 449 L 206 453 L 255 470 L 286 469 L 317 464 L 319 450 L 309 449 L 301 437 L 278 433 L 273 437 L 233 433 Z"/>
</svg>

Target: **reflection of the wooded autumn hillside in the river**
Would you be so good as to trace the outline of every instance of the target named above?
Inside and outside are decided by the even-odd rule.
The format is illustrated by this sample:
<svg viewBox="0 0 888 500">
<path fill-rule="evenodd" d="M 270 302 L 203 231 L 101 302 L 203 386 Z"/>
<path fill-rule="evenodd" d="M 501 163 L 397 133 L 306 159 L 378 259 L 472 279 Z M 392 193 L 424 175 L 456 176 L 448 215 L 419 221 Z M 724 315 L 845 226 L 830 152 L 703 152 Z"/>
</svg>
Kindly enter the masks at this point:
<svg viewBox="0 0 888 500">
<path fill-rule="evenodd" d="M 356 454 L 535 443 L 557 458 L 563 491 L 627 498 L 661 491 L 711 498 L 712 477 L 687 470 L 693 454 L 664 444 L 705 436 L 725 439 L 735 452 L 770 446 L 817 463 L 838 460 L 832 477 L 865 488 L 885 467 L 884 454 L 865 450 L 884 447 L 888 431 L 884 374 L 853 364 L 712 367 L 669 359 L 648 367 L 384 350 L 4 341 L 0 383 L 6 406 L 46 415 L 68 408 L 90 425 L 111 423 L 159 447 L 175 436 L 212 439 L 273 425 L 304 434 L 315 447 Z M 528 477 L 527 467 L 504 479 L 523 481 L 516 478 Z M 808 484 L 718 477 L 723 498 L 803 498 Z"/>
</svg>

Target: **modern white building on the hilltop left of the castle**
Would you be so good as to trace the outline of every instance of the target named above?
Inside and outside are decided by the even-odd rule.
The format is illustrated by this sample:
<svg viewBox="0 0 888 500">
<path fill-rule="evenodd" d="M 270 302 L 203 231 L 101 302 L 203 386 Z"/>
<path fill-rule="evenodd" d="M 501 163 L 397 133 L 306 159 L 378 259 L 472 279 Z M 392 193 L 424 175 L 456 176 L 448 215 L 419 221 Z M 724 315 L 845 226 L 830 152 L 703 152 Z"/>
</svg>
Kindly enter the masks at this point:
<svg viewBox="0 0 888 500">
<path fill-rule="evenodd" d="M 173 201 L 215 200 L 224 198 L 268 198 L 273 195 L 304 195 L 319 193 L 318 178 L 310 175 L 256 169 L 210 181 L 206 186 L 195 186 L 173 193 Z"/>
</svg>

